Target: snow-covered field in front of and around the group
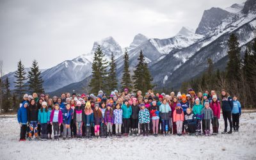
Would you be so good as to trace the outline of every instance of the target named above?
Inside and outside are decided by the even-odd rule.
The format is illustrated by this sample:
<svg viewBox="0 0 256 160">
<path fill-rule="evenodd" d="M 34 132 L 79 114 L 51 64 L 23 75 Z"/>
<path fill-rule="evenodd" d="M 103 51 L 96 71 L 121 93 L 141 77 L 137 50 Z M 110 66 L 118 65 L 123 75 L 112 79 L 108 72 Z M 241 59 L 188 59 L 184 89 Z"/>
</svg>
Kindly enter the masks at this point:
<svg viewBox="0 0 256 160">
<path fill-rule="evenodd" d="M 19 142 L 17 119 L 1 118 L 0 159 L 256 159 L 256 113 L 240 120 L 231 135 Z"/>
</svg>

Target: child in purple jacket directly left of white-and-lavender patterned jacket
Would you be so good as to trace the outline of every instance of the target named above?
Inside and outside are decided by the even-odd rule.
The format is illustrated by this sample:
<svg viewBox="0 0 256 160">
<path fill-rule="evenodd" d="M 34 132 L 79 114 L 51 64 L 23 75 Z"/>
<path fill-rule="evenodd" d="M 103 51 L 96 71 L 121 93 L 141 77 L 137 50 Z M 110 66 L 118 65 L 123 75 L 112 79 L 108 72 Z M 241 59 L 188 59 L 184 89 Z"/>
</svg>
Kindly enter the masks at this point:
<svg viewBox="0 0 256 160">
<path fill-rule="evenodd" d="M 114 123 L 113 109 L 111 104 L 107 104 L 107 109 L 105 111 L 104 123 L 107 125 L 108 135 L 112 137 L 112 125 Z"/>
</svg>

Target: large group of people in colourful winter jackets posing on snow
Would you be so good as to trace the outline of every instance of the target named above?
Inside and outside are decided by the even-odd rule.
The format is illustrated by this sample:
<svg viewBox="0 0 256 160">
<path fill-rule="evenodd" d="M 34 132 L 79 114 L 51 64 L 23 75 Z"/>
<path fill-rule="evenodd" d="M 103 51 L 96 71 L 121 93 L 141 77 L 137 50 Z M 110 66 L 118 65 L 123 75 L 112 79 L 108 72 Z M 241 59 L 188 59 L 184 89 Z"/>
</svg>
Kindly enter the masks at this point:
<svg viewBox="0 0 256 160">
<path fill-rule="evenodd" d="M 170 95 L 148 90 L 129 93 L 127 88 L 98 95 L 62 93 L 61 97 L 25 94 L 17 119 L 20 141 L 108 138 L 116 136 L 211 136 L 219 133 L 222 108 L 225 129 L 239 131 L 241 104 L 221 90 L 221 97 L 208 90 Z M 228 131 L 229 122 L 229 131 Z M 211 130 L 212 124 L 212 130 Z M 53 132 L 52 132 L 53 131 Z M 53 137 L 52 137 L 53 134 Z M 34 137 L 34 138 L 33 138 Z"/>
</svg>

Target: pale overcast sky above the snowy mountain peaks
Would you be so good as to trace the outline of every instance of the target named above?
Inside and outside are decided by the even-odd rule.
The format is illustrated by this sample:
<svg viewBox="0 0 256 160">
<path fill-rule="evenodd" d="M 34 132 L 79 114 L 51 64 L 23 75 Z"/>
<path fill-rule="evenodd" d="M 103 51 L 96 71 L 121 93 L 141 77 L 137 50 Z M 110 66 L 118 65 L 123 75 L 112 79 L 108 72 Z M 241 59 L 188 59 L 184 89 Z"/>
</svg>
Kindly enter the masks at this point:
<svg viewBox="0 0 256 160">
<path fill-rule="evenodd" d="M 141 33 L 170 38 L 182 26 L 196 29 L 204 10 L 245 0 L 0 0 L 0 59 L 6 74 L 22 60 L 51 68 L 90 52 L 93 42 L 113 36 L 121 47 Z"/>
</svg>

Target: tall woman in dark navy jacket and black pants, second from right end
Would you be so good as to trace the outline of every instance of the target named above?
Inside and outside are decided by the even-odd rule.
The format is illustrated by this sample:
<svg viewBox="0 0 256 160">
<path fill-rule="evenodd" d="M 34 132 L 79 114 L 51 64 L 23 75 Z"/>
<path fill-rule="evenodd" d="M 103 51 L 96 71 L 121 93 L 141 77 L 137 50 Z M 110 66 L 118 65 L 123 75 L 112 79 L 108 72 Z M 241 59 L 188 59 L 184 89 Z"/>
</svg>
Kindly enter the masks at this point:
<svg viewBox="0 0 256 160">
<path fill-rule="evenodd" d="M 231 134 L 232 133 L 232 120 L 231 120 L 231 111 L 233 109 L 233 100 L 229 94 L 223 89 L 221 91 L 221 102 L 222 102 L 222 115 L 224 119 L 225 129 L 222 134 Z M 230 130 L 227 132 L 228 122 Z"/>
</svg>

